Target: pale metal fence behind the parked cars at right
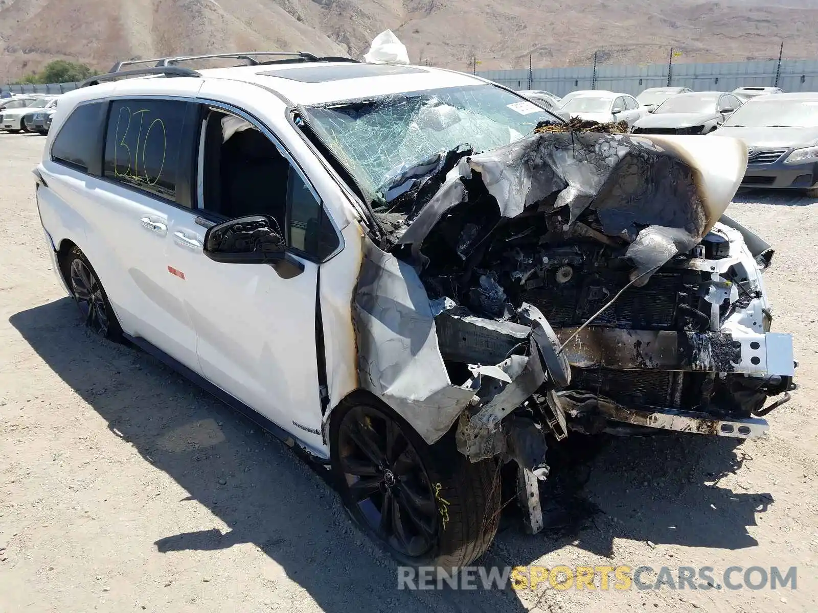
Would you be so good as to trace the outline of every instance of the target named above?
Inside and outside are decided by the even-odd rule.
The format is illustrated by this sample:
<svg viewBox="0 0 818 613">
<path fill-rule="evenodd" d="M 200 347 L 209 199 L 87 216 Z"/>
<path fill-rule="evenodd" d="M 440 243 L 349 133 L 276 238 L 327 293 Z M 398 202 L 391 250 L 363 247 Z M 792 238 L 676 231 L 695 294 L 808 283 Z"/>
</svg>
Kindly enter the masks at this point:
<svg viewBox="0 0 818 613">
<path fill-rule="evenodd" d="M 730 92 L 746 85 L 775 84 L 778 60 L 724 62 L 719 64 L 674 64 L 671 85 L 697 92 Z M 608 89 L 636 95 L 647 87 L 667 86 L 667 64 L 630 66 L 597 65 L 573 68 L 485 70 L 484 78 L 513 89 L 542 89 L 564 96 L 576 89 Z M 782 60 L 778 87 L 784 92 L 818 92 L 818 60 Z"/>
</svg>

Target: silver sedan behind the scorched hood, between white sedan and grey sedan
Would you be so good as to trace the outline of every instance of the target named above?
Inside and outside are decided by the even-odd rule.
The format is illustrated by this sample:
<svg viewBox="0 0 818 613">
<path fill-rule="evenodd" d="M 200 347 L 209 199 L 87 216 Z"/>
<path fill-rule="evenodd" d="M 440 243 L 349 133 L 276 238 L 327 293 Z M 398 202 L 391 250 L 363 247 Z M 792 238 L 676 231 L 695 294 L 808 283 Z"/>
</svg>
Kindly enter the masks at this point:
<svg viewBox="0 0 818 613">
<path fill-rule="evenodd" d="M 707 134 L 718 128 L 741 105 L 728 92 L 690 92 L 672 96 L 645 119 L 634 134 Z"/>
</svg>

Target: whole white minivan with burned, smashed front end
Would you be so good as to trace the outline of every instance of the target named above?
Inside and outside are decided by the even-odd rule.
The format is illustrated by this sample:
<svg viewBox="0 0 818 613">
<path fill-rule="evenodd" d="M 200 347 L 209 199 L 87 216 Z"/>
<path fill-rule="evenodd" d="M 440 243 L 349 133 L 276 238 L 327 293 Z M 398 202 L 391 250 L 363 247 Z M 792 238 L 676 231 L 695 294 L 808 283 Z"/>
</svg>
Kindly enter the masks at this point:
<svg viewBox="0 0 818 613">
<path fill-rule="evenodd" d="M 210 57 L 126 62 L 61 98 L 34 171 L 55 270 L 92 330 L 330 467 L 402 562 L 484 553 L 504 462 L 542 528 L 546 438 L 759 436 L 789 398 L 772 250 L 721 217 L 739 141 L 568 133 L 445 69 L 179 66 Z M 639 190 L 638 224 L 613 228 L 592 195 L 629 154 L 675 191 L 656 207 L 631 169 L 614 192 Z M 642 349 L 606 349 L 623 338 Z"/>
</svg>

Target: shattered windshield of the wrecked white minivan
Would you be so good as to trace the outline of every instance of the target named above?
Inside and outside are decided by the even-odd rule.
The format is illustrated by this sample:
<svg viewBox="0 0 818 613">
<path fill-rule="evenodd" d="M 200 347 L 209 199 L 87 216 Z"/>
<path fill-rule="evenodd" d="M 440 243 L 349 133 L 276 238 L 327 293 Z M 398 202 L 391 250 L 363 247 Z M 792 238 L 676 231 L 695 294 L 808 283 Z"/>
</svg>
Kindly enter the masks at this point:
<svg viewBox="0 0 818 613">
<path fill-rule="evenodd" d="M 421 92 L 308 106 L 311 128 L 353 175 L 370 200 L 397 177 L 435 154 L 461 145 L 475 152 L 509 145 L 554 115 L 493 85 Z"/>
</svg>

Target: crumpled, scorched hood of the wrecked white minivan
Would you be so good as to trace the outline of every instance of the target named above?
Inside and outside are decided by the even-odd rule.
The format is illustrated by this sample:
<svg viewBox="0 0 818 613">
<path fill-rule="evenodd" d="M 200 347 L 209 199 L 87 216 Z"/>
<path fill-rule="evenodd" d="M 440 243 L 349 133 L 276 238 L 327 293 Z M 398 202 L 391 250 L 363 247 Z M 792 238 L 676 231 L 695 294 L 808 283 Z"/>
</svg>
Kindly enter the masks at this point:
<svg viewBox="0 0 818 613">
<path fill-rule="evenodd" d="M 568 208 L 570 226 L 589 209 L 605 235 L 629 244 L 631 278 L 641 285 L 676 253 L 699 244 L 746 167 L 747 148 L 736 139 L 541 132 L 461 159 L 398 245 L 411 245 L 423 267 L 434 257 L 427 244 L 451 240 L 460 228 L 456 252 L 465 262 L 501 217 L 535 205 L 543 214 Z"/>
</svg>

